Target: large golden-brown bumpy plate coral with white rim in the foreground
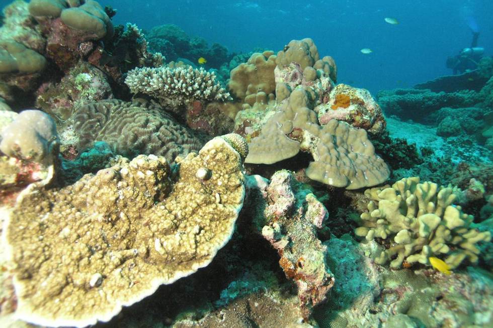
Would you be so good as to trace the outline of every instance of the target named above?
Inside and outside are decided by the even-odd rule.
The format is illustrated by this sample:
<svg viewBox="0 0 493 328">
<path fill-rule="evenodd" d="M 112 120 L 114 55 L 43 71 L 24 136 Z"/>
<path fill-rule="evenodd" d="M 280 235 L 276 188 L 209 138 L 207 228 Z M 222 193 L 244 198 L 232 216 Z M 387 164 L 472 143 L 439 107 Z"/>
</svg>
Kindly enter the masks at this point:
<svg viewBox="0 0 493 328">
<path fill-rule="evenodd" d="M 208 179 L 197 177 L 210 171 Z M 78 327 L 207 266 L 242 207 L 241 157 L 224 139 L 180 159 L 140 155 L 58 189 L 25 189 L 7 219 L 17 315 Z"/>
</svg>

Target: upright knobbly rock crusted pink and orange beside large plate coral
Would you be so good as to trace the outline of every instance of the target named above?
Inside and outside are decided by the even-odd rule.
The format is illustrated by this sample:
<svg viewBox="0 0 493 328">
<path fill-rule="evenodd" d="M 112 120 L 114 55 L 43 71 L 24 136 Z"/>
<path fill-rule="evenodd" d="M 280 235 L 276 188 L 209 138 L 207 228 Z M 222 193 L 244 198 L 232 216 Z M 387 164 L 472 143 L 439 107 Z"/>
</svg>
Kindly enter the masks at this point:
<svg viewBox="0 0 493 328">
<path fill-rule="evenodd" d="M 317 238 L 328 212 L 313 193 L 301 188 L 286 170 L 278 171 L 266 189 L 262 235 L 277 249 L 279 265 L 298 286 L 303 316 L 326 299 L 334 277 L 325 261 L 327 247 Z"/>
</svg>

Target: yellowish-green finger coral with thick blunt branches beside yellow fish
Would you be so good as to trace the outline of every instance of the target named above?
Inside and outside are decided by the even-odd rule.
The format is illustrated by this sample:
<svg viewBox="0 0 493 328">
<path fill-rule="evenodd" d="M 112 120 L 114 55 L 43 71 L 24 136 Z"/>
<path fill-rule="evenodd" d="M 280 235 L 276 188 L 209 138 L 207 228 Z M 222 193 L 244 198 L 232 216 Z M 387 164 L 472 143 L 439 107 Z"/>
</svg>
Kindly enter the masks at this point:
<svg viewBox="0 0 493 328">
<path fill-rule="evenodd" d="M 367 241 L 388 240 L 390 247 L 375 261 L 390 261 L 392 268 L 400 268 L 403 261 L 430 265 L 430 257 L 444 258 L 452 269 L 464 260 L 476 263 L 477 243 L 489 242 L 491 235 L 471 227 L 473 216 L 453 205 L 453 191 L 432 182 L 420 183 L 419 177 L 367 189 L 368 212 L 361 214 L 362 227 L 355 234 Z"/>
</svg>

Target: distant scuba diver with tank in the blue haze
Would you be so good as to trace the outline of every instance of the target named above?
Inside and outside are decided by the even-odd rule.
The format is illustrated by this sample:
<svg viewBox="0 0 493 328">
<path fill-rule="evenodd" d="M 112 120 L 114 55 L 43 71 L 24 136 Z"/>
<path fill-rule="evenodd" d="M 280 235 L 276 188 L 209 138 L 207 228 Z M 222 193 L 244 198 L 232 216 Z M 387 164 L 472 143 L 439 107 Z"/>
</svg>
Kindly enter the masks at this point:
<svg viewBox="0 0 493 328">
<path fill-rule="evenodd" d="M 471 26 L 471 25 L 470 25 Z M 454 74 L 462 74 L 476 69 L 477 63 L 481 59 L 484 48 L 477 46 L 477 39 L 479 38 L 479 31 L 477 26 L 474 24 L 475 28 L 472 28 L 472 42 L 469 48 L 464 48 L 456 56 L 450 56 L 447 58 L 447 68 L 452 69 Z"/>
</svg>

